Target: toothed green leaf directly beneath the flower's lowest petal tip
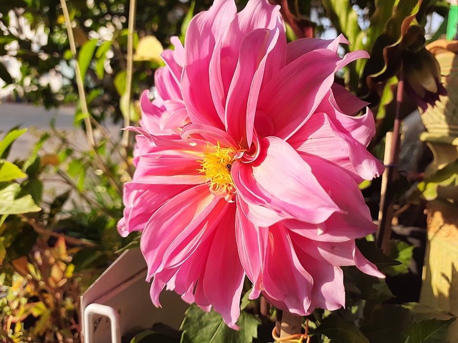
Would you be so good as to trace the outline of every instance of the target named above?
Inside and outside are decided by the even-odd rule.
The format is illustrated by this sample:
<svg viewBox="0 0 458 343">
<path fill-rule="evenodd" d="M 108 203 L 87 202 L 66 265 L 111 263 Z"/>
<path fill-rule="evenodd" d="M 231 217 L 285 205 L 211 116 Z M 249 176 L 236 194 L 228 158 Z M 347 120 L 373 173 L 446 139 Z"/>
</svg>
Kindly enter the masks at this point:
<svg viewBox="0 0 458 343">
<path fill-rule="evenodd" d="M 253 338 L 257 338 L 260 324 L 259 318 L 241 312 L 237 321 L 240 329 L 233 330 L 223 322 L 219 313 L 213 310 L 205 312 L 191 305 L 181 325 L 181 343 L 251 343 Z"/>
</svg>

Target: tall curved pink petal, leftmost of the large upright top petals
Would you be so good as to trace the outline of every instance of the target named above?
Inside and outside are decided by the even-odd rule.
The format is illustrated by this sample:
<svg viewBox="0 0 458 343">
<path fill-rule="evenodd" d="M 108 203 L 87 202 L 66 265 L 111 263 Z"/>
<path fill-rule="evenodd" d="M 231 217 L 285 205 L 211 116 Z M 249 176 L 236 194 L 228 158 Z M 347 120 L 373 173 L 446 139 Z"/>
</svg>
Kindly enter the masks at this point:
<svg viewBox="0 0 458 343">
<path fill-rule="evenodd" d="M 193 123 L 223 128 L 211 97 L 209 66 L 215 42 L 236 12 L 233 1 L 216 0 L 208 11 L 192 18 L 188 26 L 181 90 Z"/>
</svg>

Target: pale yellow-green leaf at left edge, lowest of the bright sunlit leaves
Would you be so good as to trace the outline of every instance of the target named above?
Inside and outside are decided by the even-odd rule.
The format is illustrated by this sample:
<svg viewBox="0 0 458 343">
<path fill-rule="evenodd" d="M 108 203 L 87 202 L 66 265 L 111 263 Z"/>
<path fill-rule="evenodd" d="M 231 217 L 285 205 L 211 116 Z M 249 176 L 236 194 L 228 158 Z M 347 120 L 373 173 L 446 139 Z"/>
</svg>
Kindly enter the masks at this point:
<svg viewBox="0 0 458 343">
<path fill-rule="evenodd" d="M 0 187 L 0 215 L 18 215 L 41 210 L 30 194 L 16 199 L 20 190 L 18 183 Z"/>
</svg>

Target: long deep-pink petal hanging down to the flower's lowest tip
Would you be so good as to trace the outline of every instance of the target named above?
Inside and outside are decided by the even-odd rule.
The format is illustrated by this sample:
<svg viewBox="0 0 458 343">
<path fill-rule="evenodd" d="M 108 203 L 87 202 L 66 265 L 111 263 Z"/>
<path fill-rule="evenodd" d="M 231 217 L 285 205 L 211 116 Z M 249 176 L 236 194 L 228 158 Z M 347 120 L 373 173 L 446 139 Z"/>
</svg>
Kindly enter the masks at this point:
<svg viewBox="0 0 458 343">
<path fill-rule="evenodd" d="M 225 201 L 225 200 L 223 200 Z M 237 329 L 240 296 L 245 272 L 240 264 L 234 233 L 235 206 L 231 206 L 216 229 L 203 278 L 207 299 L 224 322 Z"/>
</svg>

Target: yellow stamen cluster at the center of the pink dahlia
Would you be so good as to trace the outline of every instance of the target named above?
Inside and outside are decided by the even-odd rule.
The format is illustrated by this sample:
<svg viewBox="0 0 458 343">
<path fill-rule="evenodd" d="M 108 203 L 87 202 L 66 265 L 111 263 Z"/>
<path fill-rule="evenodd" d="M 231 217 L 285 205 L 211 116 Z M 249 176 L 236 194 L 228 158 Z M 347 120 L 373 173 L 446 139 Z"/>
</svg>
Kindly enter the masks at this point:
<svg viewBox="0 0 458 343">
<path fill-rule="evenodd" d="M 208 147 L 202 154 L 200 162 L 202 169 L 197 169 L 203 178 L 210 181 L 210 189 L 216 192 L 226 191 L 231 193 L 234 190 L 234 183 L 230 171 L 234 162 L 235 151 L 231 148 L 222 148 L 219 143 L 213 148 Z"/>
</svg>

